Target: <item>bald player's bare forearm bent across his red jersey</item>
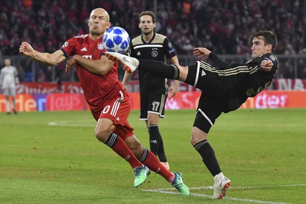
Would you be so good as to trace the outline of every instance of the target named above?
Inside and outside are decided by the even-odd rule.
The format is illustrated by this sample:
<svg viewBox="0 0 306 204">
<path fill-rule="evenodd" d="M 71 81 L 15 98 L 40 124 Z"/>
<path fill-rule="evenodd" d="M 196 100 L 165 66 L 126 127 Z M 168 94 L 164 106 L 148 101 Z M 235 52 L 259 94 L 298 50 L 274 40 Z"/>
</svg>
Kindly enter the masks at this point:
<svg viewBox="0 0 306 204">
<path fill-rule="evenodd" d="M 72 65 L 75 63 L 82 65 L 91 73 L 100 75 L 106 74 L 114 65 L 114 62 L 108 60 L 105 56 L 101 56 L 100 60 L 90 60 L 80 55 L 74 55 L 67 61 L 66 72 L 71 71 Z"/>
</svg>

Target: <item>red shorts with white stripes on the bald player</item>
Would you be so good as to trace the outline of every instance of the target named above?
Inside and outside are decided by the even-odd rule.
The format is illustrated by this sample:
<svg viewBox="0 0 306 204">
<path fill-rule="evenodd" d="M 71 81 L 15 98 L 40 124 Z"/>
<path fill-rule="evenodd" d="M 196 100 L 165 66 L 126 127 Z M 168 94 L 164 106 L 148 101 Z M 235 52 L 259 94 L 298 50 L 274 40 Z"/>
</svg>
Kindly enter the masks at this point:
<svg viewBox="0 0 306 204">
<path fill-rule="evenodd" d="M 112 120 L 115 125 L 114 133 L 123 140 L 134 135 L 134 129 L 127 121 L 130 112 L 130 97 L 124 89 L 120 90 L 113 98 L 105 101 L 100 111 L 91 111 L 96 120 L 99 118 L 108 118 Z"/>
</svg>

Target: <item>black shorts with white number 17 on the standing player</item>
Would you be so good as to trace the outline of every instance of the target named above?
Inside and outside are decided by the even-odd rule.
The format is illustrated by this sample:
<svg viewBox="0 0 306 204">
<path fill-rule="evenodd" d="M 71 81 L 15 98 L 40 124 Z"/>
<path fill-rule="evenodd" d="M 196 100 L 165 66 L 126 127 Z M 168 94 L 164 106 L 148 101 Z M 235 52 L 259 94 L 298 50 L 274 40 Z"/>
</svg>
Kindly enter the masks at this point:
<svg viewBox="0 0 306 204">
<path fill-rule="evenodd" d="M 167 95 L 164 90 L 140 94 L 140 120 L 147 120 L 148 113 L 154 113 L 161 118 L 165 117 Z"/>
</svg>

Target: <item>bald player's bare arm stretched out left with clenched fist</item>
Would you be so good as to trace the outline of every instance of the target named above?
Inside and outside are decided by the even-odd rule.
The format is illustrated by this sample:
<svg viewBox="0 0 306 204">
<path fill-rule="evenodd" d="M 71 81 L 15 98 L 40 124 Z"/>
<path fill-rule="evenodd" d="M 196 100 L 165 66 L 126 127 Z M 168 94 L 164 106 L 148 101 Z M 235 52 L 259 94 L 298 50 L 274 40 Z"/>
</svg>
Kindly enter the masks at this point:
<svg viewBox="0 0 306 204">
<path fill-rule="evenodd" d="M 57 50 L 56 52 L 50 53 L 40 53 L 33 49 L 33 47 L 28 42 L 22 42 L 19 46 L 19 54 L 27 57 L 31 57 L 37 62 L 53 66 L 63 62 L 66 57 L 62 50 Z"/>
</svg>

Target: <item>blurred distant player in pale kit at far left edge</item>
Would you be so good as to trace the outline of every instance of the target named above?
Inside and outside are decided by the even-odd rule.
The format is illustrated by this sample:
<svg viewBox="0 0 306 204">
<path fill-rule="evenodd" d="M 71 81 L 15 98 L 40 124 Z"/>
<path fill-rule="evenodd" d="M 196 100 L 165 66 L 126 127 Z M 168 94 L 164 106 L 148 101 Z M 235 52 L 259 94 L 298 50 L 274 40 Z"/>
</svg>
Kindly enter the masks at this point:
<svg viewBox="0 0 306 204">
<path fill-rule="evenodd" d="M 19 84 L 17 69 L 11 66 L 11 60 L 4 60 L 4 67 L 0 71 L 0 87 L 5 96 L 5 105 L 7 114 L 11 114 L 10 100 L 9 96 L 12 97 L 12 111 L 17 114 L 15 109 L 16 102 L 16 85 Z"/>
</svg>

